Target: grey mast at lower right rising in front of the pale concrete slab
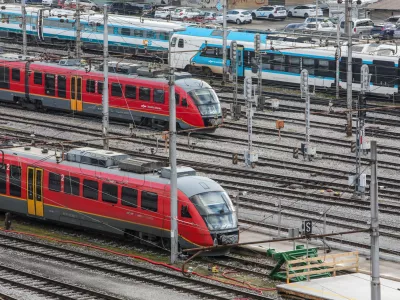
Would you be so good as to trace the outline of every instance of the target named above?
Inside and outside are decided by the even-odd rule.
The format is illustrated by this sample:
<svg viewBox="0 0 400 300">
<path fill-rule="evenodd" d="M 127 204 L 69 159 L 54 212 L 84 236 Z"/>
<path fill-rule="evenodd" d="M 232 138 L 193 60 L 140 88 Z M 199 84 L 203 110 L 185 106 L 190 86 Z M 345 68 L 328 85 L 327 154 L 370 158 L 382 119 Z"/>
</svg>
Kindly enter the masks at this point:
<svg viewBox="0 0 400 300">
<path fill-rule="evenodd" d="M 378 160 L 376 141 L 371 141 L 371 300 L 381 300 L 379 274 L 379 205 L 378 205 Z"/>
</svg>

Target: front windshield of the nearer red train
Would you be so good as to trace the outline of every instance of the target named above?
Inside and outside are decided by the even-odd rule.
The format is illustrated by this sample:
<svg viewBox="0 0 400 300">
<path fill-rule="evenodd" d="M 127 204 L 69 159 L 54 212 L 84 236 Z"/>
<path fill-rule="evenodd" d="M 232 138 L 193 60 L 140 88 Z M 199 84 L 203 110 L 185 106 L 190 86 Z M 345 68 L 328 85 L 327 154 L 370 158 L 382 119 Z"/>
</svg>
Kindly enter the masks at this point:
<svg viewBox="0 0 400 300">
<path fill-rule="evenodd" d="M 208 229 L 220 230 L 237 227 L 235 208 L 225 192 L 207 192 L 190 198 Z"/>
</svg>

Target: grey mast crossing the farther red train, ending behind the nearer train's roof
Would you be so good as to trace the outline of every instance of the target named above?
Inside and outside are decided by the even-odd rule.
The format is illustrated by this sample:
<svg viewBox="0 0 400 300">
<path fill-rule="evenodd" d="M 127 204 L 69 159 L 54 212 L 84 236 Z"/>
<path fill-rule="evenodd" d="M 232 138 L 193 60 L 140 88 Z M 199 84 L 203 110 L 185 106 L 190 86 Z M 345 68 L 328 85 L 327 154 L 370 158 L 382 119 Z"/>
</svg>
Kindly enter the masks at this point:
<svg viewBox="0 0 400 300">
<path fill-rule="evenodd" d="M 77 1 L 78 3 L 78 1 Z M 104 5 L 104 30 L 103 30 L 103 148 L 109 149 L 108 127 L 109 127 L 109 109 L 108 109 L 108 12 L 107 5 Z"/>
</svg>

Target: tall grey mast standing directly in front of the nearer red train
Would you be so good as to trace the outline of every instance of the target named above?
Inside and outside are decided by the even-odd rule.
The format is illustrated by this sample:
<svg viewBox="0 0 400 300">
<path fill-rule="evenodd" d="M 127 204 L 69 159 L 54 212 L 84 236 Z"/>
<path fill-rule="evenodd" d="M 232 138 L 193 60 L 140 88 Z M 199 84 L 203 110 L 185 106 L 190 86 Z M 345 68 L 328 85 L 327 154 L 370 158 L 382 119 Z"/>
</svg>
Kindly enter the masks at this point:
<svg viewBox="0 0 400 300">
<path fill-rule="evenodd" d="M 175 102 L 175 75 L 171 62 L 171 39 L 169 38 L 169 163 L 171 165 L 171 264 L 178 258 L 178 178 L 176 165 L 176 102 Z"/>
</svg>

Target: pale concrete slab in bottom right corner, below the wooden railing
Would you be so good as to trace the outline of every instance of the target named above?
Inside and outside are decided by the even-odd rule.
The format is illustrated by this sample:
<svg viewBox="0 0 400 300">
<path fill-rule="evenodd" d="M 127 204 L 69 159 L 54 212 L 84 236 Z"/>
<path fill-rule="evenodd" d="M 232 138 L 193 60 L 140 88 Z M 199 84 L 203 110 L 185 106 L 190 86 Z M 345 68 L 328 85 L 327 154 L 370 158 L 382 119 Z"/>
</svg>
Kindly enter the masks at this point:
<svg viewBox="0 0 400 300">
<path fill-rule="evenodd" d="M 312 300 L 371 300 L 370 277 L 361 273 L 281 284 L 282 294 Z M 399 300 L 400 283 L 381 278 L 381 299 Z"/>
</svg>

